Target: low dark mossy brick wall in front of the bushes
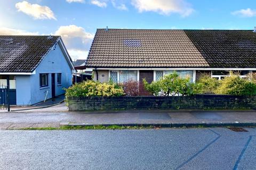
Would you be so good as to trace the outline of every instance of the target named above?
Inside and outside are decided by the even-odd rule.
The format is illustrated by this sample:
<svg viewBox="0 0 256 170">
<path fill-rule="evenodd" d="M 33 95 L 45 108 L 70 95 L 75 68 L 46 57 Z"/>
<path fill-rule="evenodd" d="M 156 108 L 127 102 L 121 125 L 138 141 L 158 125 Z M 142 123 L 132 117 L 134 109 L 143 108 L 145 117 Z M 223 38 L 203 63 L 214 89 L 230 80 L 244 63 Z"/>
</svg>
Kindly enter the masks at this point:
<svg viewBox="0 0 256 170">
<path fill-rule="evenodd" d="M 69 98 L 69 111 L 120 109 L 236 109 L 254 108 L 256 96 L 195 95 Z"/>
</svg>

